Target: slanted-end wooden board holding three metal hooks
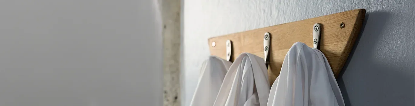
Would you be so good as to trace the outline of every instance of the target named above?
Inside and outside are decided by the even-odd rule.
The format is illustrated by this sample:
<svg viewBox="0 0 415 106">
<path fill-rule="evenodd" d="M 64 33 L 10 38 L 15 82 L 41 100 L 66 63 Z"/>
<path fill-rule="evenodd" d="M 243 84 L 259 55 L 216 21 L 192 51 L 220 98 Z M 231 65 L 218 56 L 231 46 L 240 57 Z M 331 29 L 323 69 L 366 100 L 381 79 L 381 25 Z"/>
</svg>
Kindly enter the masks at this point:
<svg viewBox="0 0 415 106">
<path fill-rule="evenodd" d="M 286 24 L 275 25 L 260 29 L 243 31 L 209 39 L 210 54 L 226 58 L 226 40 L 232 41 L 233 61 L 240 53 L 251 53 L 264 58 L 264 33 L 271 34 L 270 64 L 268 69 L 269 81 L 272 85 L 280 74 L 283 60 L 288 50 L 295 42 L 303 42 L 309 47 L 313 46 L 312 27 L 320 23 L 320 51 L 322 51 L 334 75 L 337 77 L 353 48 L 354 41 L 359 35 L 364 20 L 365 9 L 356 9 L 336 14 L 305 19 Z M 340 23 L 345 27 L 340 28 Z M 215 42 L 213 47 L 211 44 Z"/>
</svg>

